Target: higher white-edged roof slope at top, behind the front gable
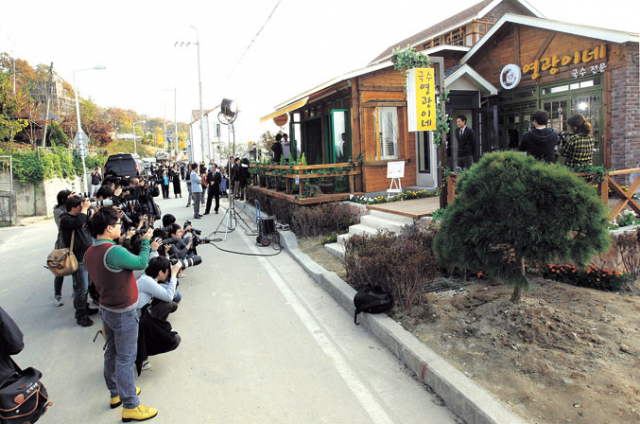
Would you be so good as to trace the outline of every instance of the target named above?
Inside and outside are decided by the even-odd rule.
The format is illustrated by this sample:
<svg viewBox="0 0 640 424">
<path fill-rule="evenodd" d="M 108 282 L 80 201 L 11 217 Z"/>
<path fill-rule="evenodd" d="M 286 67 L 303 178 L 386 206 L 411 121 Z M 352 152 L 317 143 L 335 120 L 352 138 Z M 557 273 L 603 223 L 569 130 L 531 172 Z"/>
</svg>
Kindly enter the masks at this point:
<svg viewBox="0 0 640 424">
<path fill-rule="evenodd" d="M 430 40 L 433 37 L 451 31 L 455 28 L 460 27 L 461 25 L 472 21 L 473 19 L 479 19 L 489 13 L 492 9 L 498 6 L 503 1 L 509 0 L 483 0 L 480 3 L 474 4 L 473 6 L 463 10 L 462 12 L 456 13 L 455 15 L 445 19 L 444 21 L 438 22 L 437 24 L 420 31 L 419 33 L 404 39 L 398 43 L 393 44 L 388 47 L 385 51 L 383 51 L 378 57 L 371 61 L 371 64 L 378 63 L 380 61 L 389 59 L 391 57 L 391 53 L 396 47 L 405 47 L 406 45 L 411 45 L 415 47 L 418 44 L 422 44 L 423 42 Z M 544 16 L 534 9 L 529 3 L 524 0 L 514 0 L 520 6 L 529 10 L 535 16 L 543 18 Z"/>
</svg>

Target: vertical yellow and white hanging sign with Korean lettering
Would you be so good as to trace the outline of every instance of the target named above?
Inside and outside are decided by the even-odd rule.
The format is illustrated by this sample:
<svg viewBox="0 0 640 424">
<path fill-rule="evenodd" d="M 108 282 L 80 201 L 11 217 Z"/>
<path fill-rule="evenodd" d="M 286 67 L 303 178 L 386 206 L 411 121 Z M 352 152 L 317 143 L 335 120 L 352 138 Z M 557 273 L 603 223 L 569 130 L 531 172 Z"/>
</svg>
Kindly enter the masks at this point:
<svg viewBox="0 0 640 424">
<path fill-rule="evenodd" d="M 409 131 L 436 129 L 436 84 L 433 68 L 407 71 L 407 114 Z"/>
</svg>

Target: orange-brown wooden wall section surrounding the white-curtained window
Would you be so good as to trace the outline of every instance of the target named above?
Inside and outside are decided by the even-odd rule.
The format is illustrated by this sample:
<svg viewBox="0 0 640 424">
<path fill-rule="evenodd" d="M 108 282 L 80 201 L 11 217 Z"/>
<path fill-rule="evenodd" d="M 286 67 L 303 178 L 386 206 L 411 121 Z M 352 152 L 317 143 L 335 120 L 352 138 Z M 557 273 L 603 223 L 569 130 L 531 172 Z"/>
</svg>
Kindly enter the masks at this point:
<svg viewBox="0 0 640 424">
<path fill-rule="evenodd" d="M 357 78 L 359 129 L 362 144 L 363 191 L 370 193 L 389 188 L 387 162 L 376 159 L 376 106 L 398 107 L 398 159 L 405 160 L 404 187 L 416 184 L 415 134 L 407 130 L 405 77 L 393 69 L 385 69 Z M 354 96 L 356 98 L 356 96 Z M 355 102 L 354 102 L 355 106 Z M 352 110 L 356 110 L 355 107 Z M 355 125 L 353 125 L 355 128 Z M 356 138 L 353 138 L 355 141 Z"/>
</svg>

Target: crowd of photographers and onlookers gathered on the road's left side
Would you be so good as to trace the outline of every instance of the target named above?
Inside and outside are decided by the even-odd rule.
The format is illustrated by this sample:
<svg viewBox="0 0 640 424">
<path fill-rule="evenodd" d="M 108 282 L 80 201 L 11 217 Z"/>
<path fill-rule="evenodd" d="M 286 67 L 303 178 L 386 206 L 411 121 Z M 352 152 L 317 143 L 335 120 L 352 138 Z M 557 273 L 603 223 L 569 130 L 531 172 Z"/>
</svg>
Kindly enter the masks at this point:
<svg viewBox="0 0 640 424">
<path fill-rule="evenodd" d="M 215 164 L 209 168 L 195 163 L 157 164 L 138 177 L 101 177 L 92 193 L 58 193 L 56 246 L 70 248 L 78 260 L 71 275 L 74 318 L 78 325 L 89 327 L 94 324 L 91 317 L 100 314 L 109 405 L 123 406 L 124 421 L 157 414 L 155 408 L 140 403 L 135 372 L 151 367 L 149 356 L 179 346 L 180 336 L 168 321 L 182 299 L 179 279 L 185 268 L 202 261 L 198 244 L 209 242 L 199 237 L 200 231 L 189 221 L 179 225 L 174 215 L 161 215 L 156 199 L 161 191 L 169 197 L 169 183 L 174 185 L 174 196 L 182 197 L 180 185 L 186 180 L 194 217 L 202 216 L 198 208 L 204 188 L 208 192 L 205 214 L 212 206 L 218 213 L 223 178 L 237 183 L 241 193 L 248 180 L 247 168 L 236 158 L 222 172 Z M 55 306 L 64 304 L 63 280 L 54 278 Z"/>
</svg>

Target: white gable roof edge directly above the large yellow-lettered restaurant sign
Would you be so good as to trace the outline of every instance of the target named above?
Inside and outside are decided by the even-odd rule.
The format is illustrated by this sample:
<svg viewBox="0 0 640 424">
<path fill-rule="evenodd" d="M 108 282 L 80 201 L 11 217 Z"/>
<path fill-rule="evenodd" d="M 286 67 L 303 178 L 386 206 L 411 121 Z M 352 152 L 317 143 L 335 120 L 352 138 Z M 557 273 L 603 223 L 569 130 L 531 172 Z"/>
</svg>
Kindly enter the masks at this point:
<svg viewBox="0 0 640 424">
<path fill-rule="evenodd" d="M 507 24 L 520 24 L 530 26 L 534 28 L 547 29 L 549 31 L 564 32 L 567 34 L 578 35 L 581 37 L 595 38 L 596 40 L 609 41 L 613 43 L 637 43 L 640 38 L 637 33 L 628 31 L 618 31 L 615 29 L 606 29 L 592 27 L 588 25 L 571 24 L 561 21 L 551 21 L 549 19 L 532 18 L 530 16 L 514 15 L 511 13 L 505 14 L 496 24 L 485 34 L 482 39 L 476 43 L 475 46 L 465 54 L 460 63 L 464 64 L 469 60 L 476 52 L 491 40 L 495 34 L 497 34 L 502 27 Z"/>
</svg>

